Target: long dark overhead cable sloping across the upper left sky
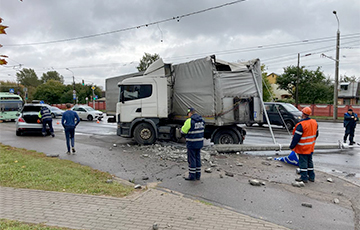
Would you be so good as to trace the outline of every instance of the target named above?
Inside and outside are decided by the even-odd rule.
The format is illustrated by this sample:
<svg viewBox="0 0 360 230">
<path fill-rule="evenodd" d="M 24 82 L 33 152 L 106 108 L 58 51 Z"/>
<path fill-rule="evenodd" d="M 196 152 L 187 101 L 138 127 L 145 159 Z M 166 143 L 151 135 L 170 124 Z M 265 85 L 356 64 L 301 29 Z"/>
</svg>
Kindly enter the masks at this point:
<svg viewBox="0 0 360 230">
<path fill-rule="evenodd" d="M 114 33 L 120 33 L 120 32 L 125 32 L 125 31 L 129 31 L 129 30 L 134 30 L 134 29 L 140 29 L 142 27 L 148 27 L 148 26 L 152 26 L 152 25 L 157 25 L 160 23 L 165 23 L 165 22 L 169 22 L 169 21 L 180 21 L 180 19 L 182 18 L 186 18 L 186 17 L 190 17 L 196 14 L 200 14 L 200 13 L 205 13 L 207 11 L 211 11 L 211 10 L 215 10 L 215 9 L 219 9 L 225 6 L 230 6 L 230 5 L 234 5 L 236 3 L 240 3 L 240 2 L 244 2 L 246 0 L 236 0 L 233 2 L 228 2 L 228 3 L 224 3 L 218 6 L 213 6 L 210 8 L 206 8 L 203 10 L 199 10 L 199 11 L 195 11 L 192 13 L 187 13 L 187 14 L 183 14 L 180 16 L 175 16 L 175 17 L 171 17 L 171 18 L 167 18 L 167 19 L 163 19 L 163 20 L 159 20 L 159 21 L 155 21 L 155 22 L 150 22 L 150 23 L 146 23 L 146 24 L 142 24 L 142 25 L 138 25 L 138 26 L 132 26 L 132 27 L 128 27 L 128 28 L 123 28 L 123 29 L 119 29 L 119 30 L 113 30 L 113 31 L 109 31 L 109 32 L 104 32 L 104 33 L 98 33 L 98 34 L 92 34 L 92 35 L 86 35 L 86 36 L 80 36 L 80 37 L 75 37 L 75 38 L 67 38 L 67 39 L 60 39 L 60 40 L 55 40 L 55 41 L 47 41 L 47 42 L 33 42 L 33 43 L 26 43 L 26 44 L 8 44 L 8 45 L 3 45 L 5 46 L 34 46 L 34 45 L 45 45 L 45 44 L 53 44 L 53 43 L 60 43 L 60 42 L 69 42 L 69 41 L 75 41 L 75 40 L 81 40 L 81 39 L 87 39 L 87 38 L 93 38 L 93 37 L 99 37 L 99 36 L 105 36 L 105 35 L 109 35 L 109 34 L 114 34 Z"/>
</svg>

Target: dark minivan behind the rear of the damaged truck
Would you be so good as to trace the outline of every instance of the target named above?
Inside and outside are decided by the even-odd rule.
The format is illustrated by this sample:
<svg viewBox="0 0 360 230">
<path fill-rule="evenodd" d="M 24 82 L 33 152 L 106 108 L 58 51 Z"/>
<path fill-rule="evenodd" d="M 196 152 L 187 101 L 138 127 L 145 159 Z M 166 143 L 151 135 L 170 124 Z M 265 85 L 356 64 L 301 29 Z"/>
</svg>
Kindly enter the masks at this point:
<svg viewBox="0 0 360 230">
<path fill-rule="evenodd" d="M 301 111 L 299 111 L 290 103 L 265 102 L 264 105 L 270 120 L 270 124 L 272 125 L 280 125 L 287 127 L 289 130 L 292 130 L 301 120 Z M 263 121 L 264 123 L 259 123 L 259 126 L 267 124 L 265 113 Z M 246 126 L 252 126 L 252 123 L 247 123 Z"/>
</svg>

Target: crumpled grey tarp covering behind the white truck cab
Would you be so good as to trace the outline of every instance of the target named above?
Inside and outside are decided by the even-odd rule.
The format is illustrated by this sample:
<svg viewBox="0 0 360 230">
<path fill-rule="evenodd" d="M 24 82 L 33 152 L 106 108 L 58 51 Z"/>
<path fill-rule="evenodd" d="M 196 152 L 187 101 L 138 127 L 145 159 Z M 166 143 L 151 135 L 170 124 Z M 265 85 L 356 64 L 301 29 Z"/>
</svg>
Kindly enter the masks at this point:
<svg viewBox="0 0 360 230">
<path fill-rule="evenodd" d="M 235 120 L 245 123 L 251 117 L 262 121 L 261 106 L 250 108 L 249 104 L 260 100 L 262 95 L 262 92 L 257 92 L 254 77 L 262 85 L 258 59 L 229 63 L 211 56 L 174 65 L 171 111 L 176 115 L 186 115 L 187 108 L 193 107 L 207 122 L 218 125 Z M 234 110 L 240 115 L 234 115 Z"/>
</svg>

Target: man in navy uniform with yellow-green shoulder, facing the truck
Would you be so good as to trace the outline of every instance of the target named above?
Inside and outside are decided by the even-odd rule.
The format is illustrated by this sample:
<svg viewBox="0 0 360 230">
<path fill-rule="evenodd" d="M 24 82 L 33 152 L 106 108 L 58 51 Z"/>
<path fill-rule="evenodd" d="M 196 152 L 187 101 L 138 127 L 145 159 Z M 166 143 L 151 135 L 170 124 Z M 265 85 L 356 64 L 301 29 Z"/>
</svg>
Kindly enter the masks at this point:
<svg viewBox="0 0 360 230">
<path fill-rule="evenodd" d="M 200 151 L 204 146 L 205 121 L 193 108 L 188 109 L 188 119 L 181 127 L 181 133 L 185 134 L 189 176 L 185 180 L 200 180 L 201 157 Z"/>
</svg>

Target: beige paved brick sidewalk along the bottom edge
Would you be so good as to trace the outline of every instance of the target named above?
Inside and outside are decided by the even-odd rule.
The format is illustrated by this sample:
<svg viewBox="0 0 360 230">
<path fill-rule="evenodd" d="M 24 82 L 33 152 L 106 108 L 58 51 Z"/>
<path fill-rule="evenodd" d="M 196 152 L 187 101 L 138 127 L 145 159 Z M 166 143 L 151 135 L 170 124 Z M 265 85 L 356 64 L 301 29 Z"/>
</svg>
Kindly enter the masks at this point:
<svg viewBox="0 0 360 230">
<path fill-rule="evenodd" d="M 1 218 L 72 229 L 287 229 L 157 189 L 113 198 L 0 187 Z"/>
</svg>

